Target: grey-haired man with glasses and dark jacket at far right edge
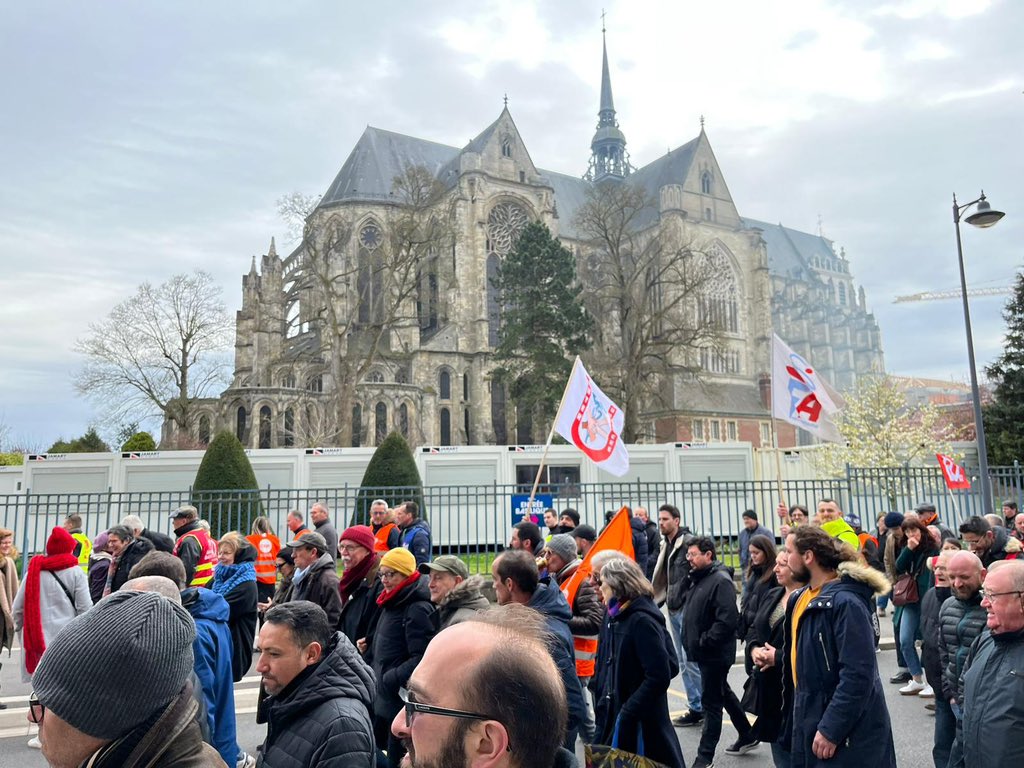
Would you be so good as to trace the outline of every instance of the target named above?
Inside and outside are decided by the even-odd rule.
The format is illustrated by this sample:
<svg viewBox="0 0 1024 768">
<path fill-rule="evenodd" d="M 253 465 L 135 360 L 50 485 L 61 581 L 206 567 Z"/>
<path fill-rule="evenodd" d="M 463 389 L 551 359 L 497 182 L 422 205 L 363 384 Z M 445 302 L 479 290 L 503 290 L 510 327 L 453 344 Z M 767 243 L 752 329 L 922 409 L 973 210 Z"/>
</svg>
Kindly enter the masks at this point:
<svg viewBox="0 0 1024 768">
<path fill-rule="evenodd" d="M 988 629 L 964 670 L 964 722 L 949 765 L 965 765 L 964 756 L 972 768 L 1024 765 L 1024 561 L 992 563 L 981 607 Z"/>
</svg>

